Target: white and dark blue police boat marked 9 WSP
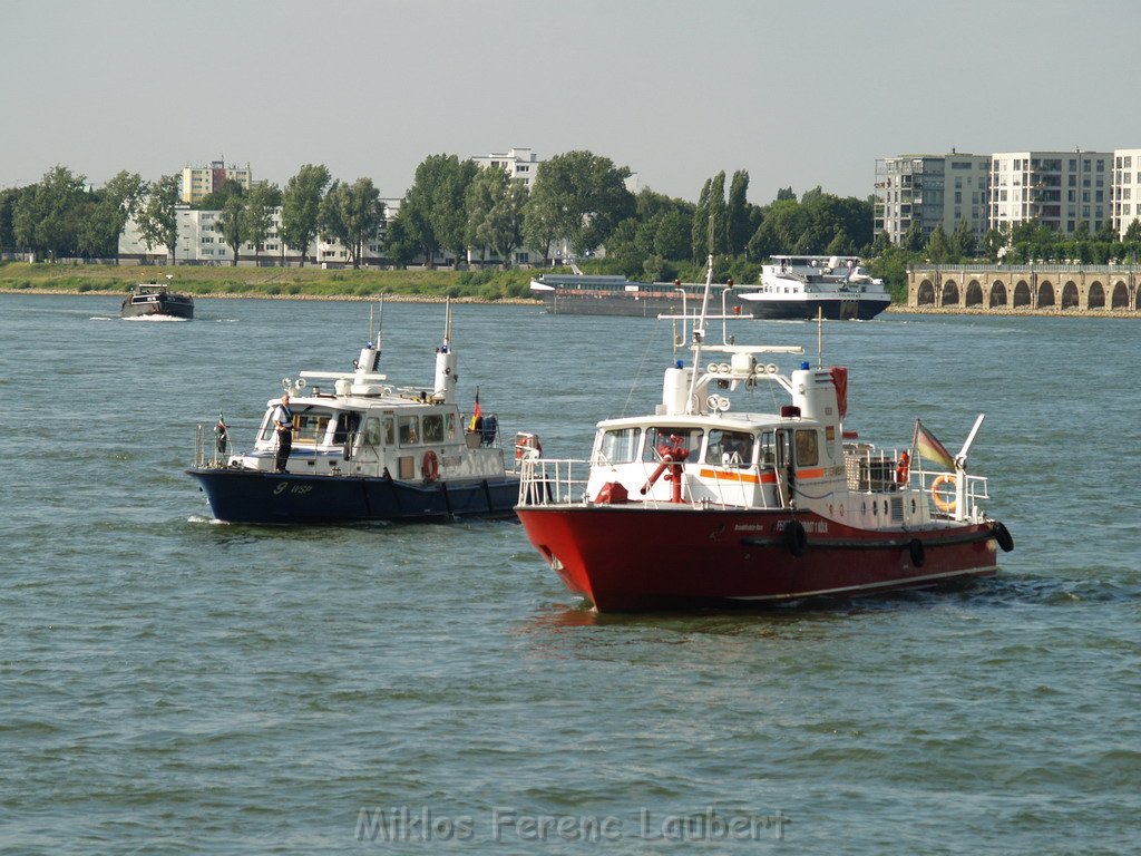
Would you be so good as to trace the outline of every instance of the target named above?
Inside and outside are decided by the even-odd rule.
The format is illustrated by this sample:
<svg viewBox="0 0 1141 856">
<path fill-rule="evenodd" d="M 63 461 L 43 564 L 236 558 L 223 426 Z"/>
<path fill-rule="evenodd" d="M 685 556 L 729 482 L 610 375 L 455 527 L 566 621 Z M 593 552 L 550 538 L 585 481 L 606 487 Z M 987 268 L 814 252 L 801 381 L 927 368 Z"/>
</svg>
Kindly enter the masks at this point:
<svg viewBox="0 0 1141 856">
<path fill-rule="evenodd" d="M 519 476 L 507 468 L 499 420 L 483 414 L 478 390 L 471 414 L 460 412 L 451 333 L 448 305 L 430 388 L 390 383 L 378 371 L 379 340 L 361 350 L 353 372 L 302 371 L 297 380 L 283 379 L 293 427 L 284 471 L 276 469 L 274 425 L 281 397 L 266 403 L 248 452 L 227 453 L 221 417 L 212 442 L 200 425 L 195 462 L 186 473 L 213 516 L 251 524 L 512 517 Z M 539 453 L 537 437 L 519 434 L 512 468 Z"/>
</svg>

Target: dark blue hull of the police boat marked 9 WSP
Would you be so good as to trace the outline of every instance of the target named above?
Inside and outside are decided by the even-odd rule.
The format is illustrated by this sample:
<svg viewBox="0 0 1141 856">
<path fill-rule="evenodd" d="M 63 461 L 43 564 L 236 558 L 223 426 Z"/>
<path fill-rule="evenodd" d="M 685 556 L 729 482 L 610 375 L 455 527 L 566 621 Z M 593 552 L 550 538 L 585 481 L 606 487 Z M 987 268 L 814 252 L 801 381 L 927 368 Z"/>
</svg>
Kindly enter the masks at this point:
<svg viewBox="0 0 1141 856">
<path fill-rule="evenodd" d="M 519 482 L 399 482 L 391 478 L 260 473 L 236 468 L 186 470 L 215 517 L 227 523 L 318 524 L 510 517 Z"/>
</svg>

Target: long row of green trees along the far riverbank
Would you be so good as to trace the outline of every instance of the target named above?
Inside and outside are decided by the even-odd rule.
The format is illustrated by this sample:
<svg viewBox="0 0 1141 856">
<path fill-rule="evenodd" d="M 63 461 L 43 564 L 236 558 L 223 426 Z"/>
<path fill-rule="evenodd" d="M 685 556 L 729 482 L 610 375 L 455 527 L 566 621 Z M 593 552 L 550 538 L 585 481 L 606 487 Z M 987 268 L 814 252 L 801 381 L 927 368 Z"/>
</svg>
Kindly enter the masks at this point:
<svg viewBox="0 0 1141 856">
<path fill-rule="evenodd" d="M 323 164 L 305 164 L 284 188 L 226 181 L 194 207 L 219 212 L 213 228 L 233 250 L 233 264 L 243 244 L 257 255 L 277 237 L 284 259 L 285 247 L 308 248 L 321 239 L 339 241 L 358 267 L 382 231 L 378 250 L 395 265 L 445 259 L 509 267 L 517 250 L 549 260 L 561 256 L 565 242 L 596 268 L 672 278 L 702 266 L 710 252 L 733 268 L 771 252 L 855 253 L 871 242 L 869 201 L 819 187 L 798 201 L 787 188 L 759 207 L 747 201 L 748 173 L 741 170 L 728 193 L 725 172 L 706 180 L 695 204 L 649 188 L 634 194 L 630 176 L 608 158 L 567 152 L 539 164 L 528 191 L 503 170 L 436 154 L 416 168 L 391 218 L 371 179 L 333 180 Z M 148 183 L 124 170 L 95 188 L 86 176 L 55 167 L 34 185 L 0 191 L 0 248 L 44 259 L 114 258 L 133 220 L 148 249 L 165 245 L 172 253 L 183 207 L 177 175 Z"/>
</svg>

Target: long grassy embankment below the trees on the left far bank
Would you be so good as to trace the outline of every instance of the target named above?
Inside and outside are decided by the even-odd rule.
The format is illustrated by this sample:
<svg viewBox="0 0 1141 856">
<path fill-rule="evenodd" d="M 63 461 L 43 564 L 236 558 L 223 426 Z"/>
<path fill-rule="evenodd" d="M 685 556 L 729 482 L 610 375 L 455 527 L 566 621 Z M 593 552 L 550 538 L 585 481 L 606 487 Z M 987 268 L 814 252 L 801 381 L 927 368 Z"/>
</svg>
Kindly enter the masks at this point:
<svg viewBox="0 0 1141 856">
<path fill-rule="evenodd" d="M 123 294 L 139 282 L 173 278 L 176 291 L 201 297 L 405 300 L 529 300 L 528 270 L 322 270 L 315 267 L 0 264 L 0 291 Z"/>
</svg>

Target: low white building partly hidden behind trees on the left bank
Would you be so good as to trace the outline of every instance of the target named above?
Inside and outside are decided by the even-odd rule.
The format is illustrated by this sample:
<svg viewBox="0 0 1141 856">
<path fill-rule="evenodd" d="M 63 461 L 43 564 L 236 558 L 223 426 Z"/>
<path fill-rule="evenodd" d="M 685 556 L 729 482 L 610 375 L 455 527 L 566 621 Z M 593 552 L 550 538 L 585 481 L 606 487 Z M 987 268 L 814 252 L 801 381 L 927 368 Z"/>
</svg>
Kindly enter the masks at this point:
<svg viewBox="0 0 1141 856">
<path fill-rule="evenodd" d="M 178 241 L 175 247 L 175 261 L 177 264 L 229 265 L 234 260 L 234 252 L 229 244 L 216 231 L 219 213 L 221 212 L 179 209 Z M 286 264 L 299 264 L 300 252 L 288 245 L 283 247 L 277 237 L 280 225 L 281 208 L 274 212 L 273 227 L 266 243 L 260 249 L 251 243 L 242 244 L 238 248 L 238 261 L 253 263 L 257 259 L 265 264 L 280 264 L 284 259 Z M 385 227 L 381 226 L 372 240 L 365 244 L 362 264 L 381 263 L 383 237 Z M 147 248 L 139 235 L 138 224 L 130 219 L 119 236 L 119 258 L 137 261 L 164 261 L 170 258 L 170 250 L 165 244 Z M 341 267 L 350 264 L 350 259 L 348 250 L 339 241 L 323 241 L 318 237 L 306 252 L 306 264 Z"/>
</svg>

